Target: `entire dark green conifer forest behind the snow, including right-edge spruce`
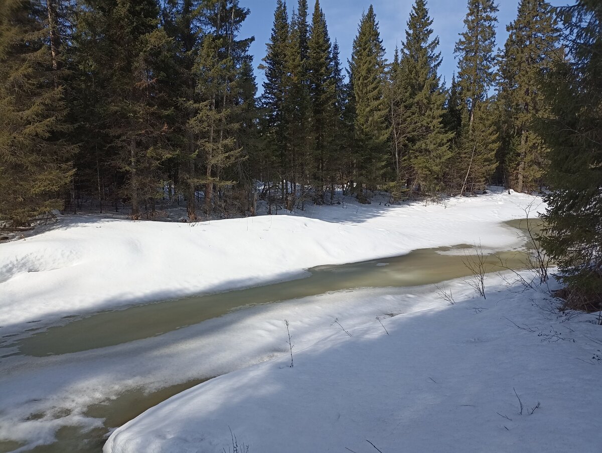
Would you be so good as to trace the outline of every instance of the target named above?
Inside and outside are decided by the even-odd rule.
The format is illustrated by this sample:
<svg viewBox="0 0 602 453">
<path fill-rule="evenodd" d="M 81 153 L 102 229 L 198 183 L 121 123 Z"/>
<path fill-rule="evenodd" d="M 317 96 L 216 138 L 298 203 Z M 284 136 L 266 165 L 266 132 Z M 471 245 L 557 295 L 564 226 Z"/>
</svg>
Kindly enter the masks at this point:
<svg viewBox="0 0 602 453">
<path fill-rule="evenodd" d="M 371 5 L 341 61 L 319 0 L 275 0 L 253 63 L 250 6 L 2 0 L 0 226 L 174 204 L 194 222 L 494 184 L 544 194 L 545 249 L 574 297 L 602 299 L 602 2 L 520 0 L 497 48 L 494 0 L 468 0 L 448 83 L 426 0 L 392 61 Z"/>
</svg>

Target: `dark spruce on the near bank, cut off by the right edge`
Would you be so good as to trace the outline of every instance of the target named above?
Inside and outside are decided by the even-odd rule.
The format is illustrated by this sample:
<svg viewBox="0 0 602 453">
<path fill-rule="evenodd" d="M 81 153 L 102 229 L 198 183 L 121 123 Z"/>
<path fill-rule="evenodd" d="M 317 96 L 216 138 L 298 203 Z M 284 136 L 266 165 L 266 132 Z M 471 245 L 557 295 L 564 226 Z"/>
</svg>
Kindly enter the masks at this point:
<svg viewBox="0 0 602 453">
<path fill-rule="evenodd" d="M 537 131 L 550 149 L 542 245 L 568 287 L 568 306 L 602 308 L 602 4 L 558 8 L 568 58 L 542 76 L 550 107 Z"/>
</svg>

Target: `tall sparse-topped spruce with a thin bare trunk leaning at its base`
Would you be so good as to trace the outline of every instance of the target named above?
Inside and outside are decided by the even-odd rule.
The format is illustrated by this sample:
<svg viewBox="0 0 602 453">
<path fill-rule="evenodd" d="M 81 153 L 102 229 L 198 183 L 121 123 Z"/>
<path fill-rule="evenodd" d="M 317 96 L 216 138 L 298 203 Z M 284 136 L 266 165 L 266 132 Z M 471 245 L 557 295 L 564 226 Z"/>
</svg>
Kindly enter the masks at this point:
<svg viewBox="0 0 602 453">
<path fill-rule="evenodd" d="M 468 0 L 466 31 L 456 43 L 459 56 L 458 86 L 463 102 L 460 137 L 456 138 L 453 166 L 449 169 L 450 192 L 461 195 L 485 189 L 486 178 L 495 168 L 498 133 L 492 121 L 488 93 L 494 84 L 495 22 L 493 0 Z M 482 105 L 481 105 L 482 104 Z M 482 121 L 476 124 L 477 117 Z M 457 179 L 456 179 L 457 178 Z"/>
</svg>

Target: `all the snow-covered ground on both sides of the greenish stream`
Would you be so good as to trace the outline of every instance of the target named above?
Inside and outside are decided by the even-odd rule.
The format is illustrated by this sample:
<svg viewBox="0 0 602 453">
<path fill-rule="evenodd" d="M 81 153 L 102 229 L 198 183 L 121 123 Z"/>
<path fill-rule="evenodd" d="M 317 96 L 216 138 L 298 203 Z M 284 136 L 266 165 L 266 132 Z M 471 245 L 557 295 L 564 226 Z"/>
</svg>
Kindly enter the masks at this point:
<svg viewBox="0 0 602 453">
<path fill-rule="evenodd" d="M 352 203 L 194 225 L 65 217 L 0 245 L 0 336 L 10 342 L 63 316 L 296 278 L 320 264 L 460 243 L 514 248 L 523 241 L 501 222 L 529 207 L 531 216 L 543 210 L 536 197 L 494 190 L 446 204 Z M 486 301 L 462 281 L 447 284 L 453 306 L 432 287 L 359 289 L 108 348 L 0 358 L 0 441 L 49 443 L 61 426 L 98 426 L 89 405 L 223 375 L 119 428 L 105 451 L 228 451 L 228 426 L 249 453 L 376 451 L 366 439 L 383 453 L 598 451 L 600 327 L 533 307 L 530 299 L 547 306 L 537 290 L 509 289 L 493 275 L 487 284 Z M 399 314 L 382 319 L 390 335 L 374 319 L 383 313 Z M 554 332 L 575 342 L 554 342 Z"/>
</svg>

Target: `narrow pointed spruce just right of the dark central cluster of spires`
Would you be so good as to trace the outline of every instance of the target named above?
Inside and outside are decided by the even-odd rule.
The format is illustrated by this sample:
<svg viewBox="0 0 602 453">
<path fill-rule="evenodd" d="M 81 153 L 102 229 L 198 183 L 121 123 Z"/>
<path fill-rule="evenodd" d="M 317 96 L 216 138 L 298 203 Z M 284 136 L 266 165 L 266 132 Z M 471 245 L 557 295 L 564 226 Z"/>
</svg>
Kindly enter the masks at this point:
<svg viewBox="0 0 602 453">
<path fill-rule="evenodd" d="M 382 182 L 386 166 L 388 112 L 385 98 L 385 49 L 380 40 L 374 8 L 362 15 L 358 34 L 353 40 L 350 73 L 353 86 L 354 129 L 358 187 L 356 192 L 365 201 L 362 184 L 376 189 Z"/>
</svg>

